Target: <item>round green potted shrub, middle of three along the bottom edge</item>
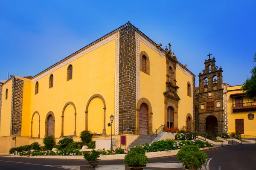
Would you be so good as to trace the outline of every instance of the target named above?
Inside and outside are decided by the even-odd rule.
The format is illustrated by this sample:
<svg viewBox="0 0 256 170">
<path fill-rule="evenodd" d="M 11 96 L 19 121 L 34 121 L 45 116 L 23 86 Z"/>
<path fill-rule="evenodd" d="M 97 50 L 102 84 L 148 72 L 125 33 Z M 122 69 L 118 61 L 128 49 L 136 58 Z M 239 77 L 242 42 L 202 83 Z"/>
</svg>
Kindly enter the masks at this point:
<svg viewBox="0 0 256 170">
<path fill-rule="evenodd" d="M 128 164 L 130 170 L 143 170 L 148 163 L 148 157 L 142 147 L 135 147 L 125 155 L 124 163 Z"/>
</svg>

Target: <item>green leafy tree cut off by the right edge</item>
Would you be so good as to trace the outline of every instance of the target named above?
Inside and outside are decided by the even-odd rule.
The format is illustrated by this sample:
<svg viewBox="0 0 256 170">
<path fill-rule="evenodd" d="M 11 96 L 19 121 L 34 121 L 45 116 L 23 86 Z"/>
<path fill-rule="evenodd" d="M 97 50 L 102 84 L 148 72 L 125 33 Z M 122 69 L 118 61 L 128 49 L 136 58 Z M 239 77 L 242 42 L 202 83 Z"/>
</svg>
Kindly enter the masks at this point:
<svg viewBox="0 0 256 170">
<path fill-rule="evenodd" d="M 256 53 L 254 54 L 253 62 L 256 62 Z M 241 87 L 241 90 L 245 92 L 245 96 L 253 102 L 256 102 L 256 66 L 252 68 L 250 71 L 251 77 L 250 79 L 247 79 L 243 86 Z"/>
</svg>

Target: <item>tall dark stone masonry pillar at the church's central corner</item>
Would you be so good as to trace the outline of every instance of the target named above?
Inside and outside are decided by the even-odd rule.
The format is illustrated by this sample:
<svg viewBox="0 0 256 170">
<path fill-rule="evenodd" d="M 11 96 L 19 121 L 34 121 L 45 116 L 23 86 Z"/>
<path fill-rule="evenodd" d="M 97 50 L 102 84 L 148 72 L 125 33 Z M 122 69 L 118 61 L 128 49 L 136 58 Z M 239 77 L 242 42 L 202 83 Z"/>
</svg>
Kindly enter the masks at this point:
<svg viewBox="0 0 256 170">
<path fill-rule="evenodd" d="M 136 42 L 131 26 L 120 30 L 119 134 L 136 134 Z"/>
</svg>

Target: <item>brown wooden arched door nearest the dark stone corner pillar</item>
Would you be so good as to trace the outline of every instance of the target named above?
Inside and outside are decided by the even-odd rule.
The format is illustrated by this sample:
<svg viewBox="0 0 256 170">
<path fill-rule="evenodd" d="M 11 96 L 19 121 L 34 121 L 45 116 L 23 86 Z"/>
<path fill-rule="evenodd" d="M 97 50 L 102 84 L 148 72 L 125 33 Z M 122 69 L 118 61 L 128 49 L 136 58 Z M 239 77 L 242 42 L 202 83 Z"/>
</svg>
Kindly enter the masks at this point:
<svg viewBox="0 0 256 170">
<path fill-rule="evenodd" d="M 148 106 L 145 103 L 140 105 L 140 135 L 148 134 Z"/>
</svg>

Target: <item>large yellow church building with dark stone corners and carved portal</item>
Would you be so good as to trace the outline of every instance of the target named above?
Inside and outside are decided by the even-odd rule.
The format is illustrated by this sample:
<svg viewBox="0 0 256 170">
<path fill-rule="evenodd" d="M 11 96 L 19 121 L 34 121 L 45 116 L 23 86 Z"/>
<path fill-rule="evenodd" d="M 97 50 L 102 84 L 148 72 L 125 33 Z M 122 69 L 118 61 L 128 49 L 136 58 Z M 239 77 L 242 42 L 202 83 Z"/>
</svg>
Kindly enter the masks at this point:
<svg viewBox="0 0 256 170">
<path fill-rule="evenodd" d="M 195 75 L 131 23 L 115 29 L 34 77 L 0 85 L 0 153 L 14 146 L 79 140 L 82 130 L 128 144 L 161 125 L 195 130 Z"/>
</svg>

